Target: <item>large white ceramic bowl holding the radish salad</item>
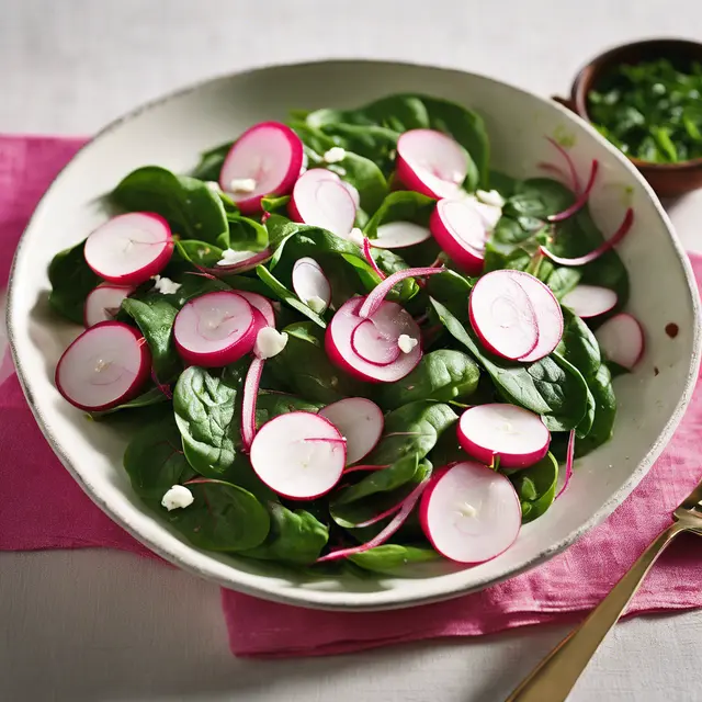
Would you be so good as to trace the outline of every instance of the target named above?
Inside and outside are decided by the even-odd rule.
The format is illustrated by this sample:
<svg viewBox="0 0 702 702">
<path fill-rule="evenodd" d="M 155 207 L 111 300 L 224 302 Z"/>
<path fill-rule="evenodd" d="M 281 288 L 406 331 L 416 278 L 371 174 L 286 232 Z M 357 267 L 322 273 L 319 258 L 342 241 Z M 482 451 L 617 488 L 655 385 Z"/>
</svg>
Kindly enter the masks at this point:
<svg viewBox="0 0 702 702">
<path fill-rule="evenodd" d="M 517 177 L 554 160 L 544 135 L 567 136 L 581 172 L 600 160 L 591 197 L 604 231 L 631 202 L 636 224 L 620 247 L 631 275 L 630 310 L 646 329 L 647 350 L 632 375 L 616 380 L 614 439 L 577 462 L 569 489 L 522 530 L 501 556 L 471 568 L 432 566 L 415 578 L 325 579 L 291 576 L 273 565 L 202 552 L 148 511 L 122 468 L 126 437 L 88 422 L 54 387 L 56 362 L 79 331 L 47 313 L 46 268 L 56 251 L 87 236 L 105 214 L 98 197 L 132 169 L 159 163 L 186 171 L 200 151 L 288 110 L 347 107 L 417 91 L 449 98 L 486 120 L 491 163 Z M 304 607 L 372 610 L 455 597 L 532 568 L 610 514 L 661 452 L 690 398 L 700 361 L 699 297 L 670 222 L 634 167 L 591 127 L 559 105 L 480 76 L 407 64 L 326 61 L 218 78 L 148 104 L 113 123 L 58 176 L 24 233 L 9 294 L 9 331 L 34 415 L 66 468 L 94 502 L 173 564 L 225 587 Z M 670 339 L 665 327 L 676 322 Z M 654 369 L 658 371 L 656 375 Z"/>
</svg>

